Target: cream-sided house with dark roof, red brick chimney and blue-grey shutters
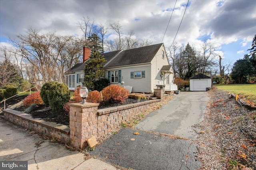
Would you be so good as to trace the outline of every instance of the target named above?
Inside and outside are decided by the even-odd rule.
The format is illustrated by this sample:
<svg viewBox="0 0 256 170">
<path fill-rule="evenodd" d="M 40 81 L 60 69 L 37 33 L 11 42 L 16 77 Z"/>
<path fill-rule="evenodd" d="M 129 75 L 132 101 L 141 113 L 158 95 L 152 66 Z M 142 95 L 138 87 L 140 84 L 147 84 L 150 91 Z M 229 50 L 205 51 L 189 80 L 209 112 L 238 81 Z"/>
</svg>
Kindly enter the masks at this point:
<svg viewBox="0 0 256 170">
<path fill-rule="evenodd" d="M 173 72 L 164 43 L 103 55 L 106 59 L 104 70 L 110 84 L 121 85 L 121 81 L 124 81 L 124 85 L 132 86 L 132 92 L 152 93 L 156 85 L 165 85 L 166 91 L 172 90 Z M 83 81 L 84 63 L 89 56 L 90 49 L 84 47 L 84 62 L 66 72 L 66 83 L 70 90 L 74 90 Z"/>
</svg>

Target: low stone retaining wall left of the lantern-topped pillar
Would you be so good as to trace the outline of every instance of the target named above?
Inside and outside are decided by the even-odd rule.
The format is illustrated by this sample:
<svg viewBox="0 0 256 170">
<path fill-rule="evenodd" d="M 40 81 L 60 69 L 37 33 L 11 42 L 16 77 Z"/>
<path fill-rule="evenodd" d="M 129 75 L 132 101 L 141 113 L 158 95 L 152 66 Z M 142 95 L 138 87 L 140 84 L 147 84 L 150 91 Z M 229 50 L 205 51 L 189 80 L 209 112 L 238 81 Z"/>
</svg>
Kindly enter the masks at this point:
<svg viewBox="0 0 256 170">
<path fill-rule="evenodd" d="M 15 123 L 31 131 L 47 136 L 60 143 L 70 143 L 69 127 L 55 122 L 46 122 L 41 118 L 33 118 L 31 115 L 15 111 L 13 109 L 5 109 L 4 119 Z"/>
</svg>

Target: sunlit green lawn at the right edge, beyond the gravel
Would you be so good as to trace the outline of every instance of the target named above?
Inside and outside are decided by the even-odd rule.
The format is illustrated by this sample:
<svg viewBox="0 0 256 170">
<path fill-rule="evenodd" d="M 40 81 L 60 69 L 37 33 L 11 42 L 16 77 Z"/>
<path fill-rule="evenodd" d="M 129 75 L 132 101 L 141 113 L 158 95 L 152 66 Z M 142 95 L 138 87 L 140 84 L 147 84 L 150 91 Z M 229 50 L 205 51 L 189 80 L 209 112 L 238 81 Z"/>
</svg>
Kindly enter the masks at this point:
<svg viewBox="0 0 256 170">
<path fill-rule="evenodd" d="M 218 89 L 245 97 L 256 103 L 256 84 L 214 85 Z"/>
</svg>

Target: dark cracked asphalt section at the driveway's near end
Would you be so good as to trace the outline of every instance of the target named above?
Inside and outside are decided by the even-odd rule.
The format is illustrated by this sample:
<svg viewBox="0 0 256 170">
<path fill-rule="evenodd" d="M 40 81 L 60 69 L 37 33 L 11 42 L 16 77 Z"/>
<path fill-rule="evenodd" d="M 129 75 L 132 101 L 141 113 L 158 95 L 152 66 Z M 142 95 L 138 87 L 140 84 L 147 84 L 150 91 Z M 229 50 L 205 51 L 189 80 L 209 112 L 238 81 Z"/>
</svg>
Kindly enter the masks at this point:
<svg viewBox="0 0 256 170">
<path fill-rule="evenodd" d="M 201 163 L 195 154 L 196 144 L 190 140 L 130 128 L 122 128 L 90 152 L 106 162 L 136 170 L 196 170 Z"/>
</svg>

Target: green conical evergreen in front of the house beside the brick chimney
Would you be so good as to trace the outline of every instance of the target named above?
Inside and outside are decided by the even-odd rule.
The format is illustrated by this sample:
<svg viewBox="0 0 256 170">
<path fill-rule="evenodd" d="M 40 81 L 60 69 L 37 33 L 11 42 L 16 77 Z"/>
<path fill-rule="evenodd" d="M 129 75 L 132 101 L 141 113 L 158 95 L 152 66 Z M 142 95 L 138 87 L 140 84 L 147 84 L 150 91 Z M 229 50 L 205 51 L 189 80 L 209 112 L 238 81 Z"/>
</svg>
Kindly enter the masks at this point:
<svg viewBox="0 0 256 170">
<path fill-rule="evenodd" d="M 90 59 L 88 59 L 84 66 L 84 81 L 85 86 L 89 90 L 94 90 L 94 82 L 105 77 L 104 63 L 105 58 L 99 51 L 92 51 Z"/>
</svg>

